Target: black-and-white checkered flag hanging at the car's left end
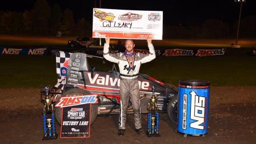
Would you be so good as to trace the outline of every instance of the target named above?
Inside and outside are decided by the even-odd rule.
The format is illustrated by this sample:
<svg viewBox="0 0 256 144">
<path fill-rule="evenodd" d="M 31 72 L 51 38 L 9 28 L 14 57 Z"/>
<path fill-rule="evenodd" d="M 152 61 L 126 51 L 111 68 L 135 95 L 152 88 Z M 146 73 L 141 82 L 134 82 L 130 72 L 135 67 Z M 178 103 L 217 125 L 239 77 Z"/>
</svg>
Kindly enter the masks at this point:
<svg viewBox="0 0 256 144">
<path fill-rule="evenodd" d="M 65 53 L 63 51 L 56 51 L 56 73 L 58 82 L 54 87 L 57 87 L 58 89 L 64 88 L 64 85 L 66 83 L 66 76 L 61 75 L 61 67 L 64 66 L 65 63 L 69 63 L 69 58 L 72 53 Z M 65 65 L 67 68 L 67 65 Z M 67 71 L 65 72 L 67 73 Z"/>
</svg>

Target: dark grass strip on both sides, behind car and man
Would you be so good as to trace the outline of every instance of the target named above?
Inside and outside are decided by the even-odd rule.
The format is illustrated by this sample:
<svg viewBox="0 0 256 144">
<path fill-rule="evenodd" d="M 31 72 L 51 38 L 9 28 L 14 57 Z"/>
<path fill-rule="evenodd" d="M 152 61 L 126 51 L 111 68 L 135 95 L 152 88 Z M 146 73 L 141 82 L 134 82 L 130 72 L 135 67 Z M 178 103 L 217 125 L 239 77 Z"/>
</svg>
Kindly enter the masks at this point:
<svg viewBox="0 0 256 144">
<path fill-rule="evenodd" d="M 212 86 L 255 86 L 256 57 L 157 57 L 141 66 L 140 73 L 178 85 L 179 79 L 206 79 Z M 1 55 L 0 87 L 43 87 L 57 83 L 55 57 L 51 55 Z M 89 58 L 96 70 L 109 71 L 112 64 Z"/>
</svg>

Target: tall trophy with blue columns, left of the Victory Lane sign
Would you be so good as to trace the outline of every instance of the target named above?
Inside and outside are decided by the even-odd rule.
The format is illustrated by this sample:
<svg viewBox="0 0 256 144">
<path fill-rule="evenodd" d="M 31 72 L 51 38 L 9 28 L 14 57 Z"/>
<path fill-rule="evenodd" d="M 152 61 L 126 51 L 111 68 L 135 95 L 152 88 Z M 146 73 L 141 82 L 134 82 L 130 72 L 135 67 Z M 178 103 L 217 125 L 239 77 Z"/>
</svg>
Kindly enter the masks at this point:
<svg viewBox="0 0 256 144">
<path fill-rule="evenodd" d="M 53 97 L 49 95 L 49 86 L 46 86 L 45 91 L 41 91 L 41 93 L 45 93 L 45 95 L 41 95 L 41 102 L 43 104 L 43 140 L 57 139 L 58 135 L 55 132 Z"/>
</svg>

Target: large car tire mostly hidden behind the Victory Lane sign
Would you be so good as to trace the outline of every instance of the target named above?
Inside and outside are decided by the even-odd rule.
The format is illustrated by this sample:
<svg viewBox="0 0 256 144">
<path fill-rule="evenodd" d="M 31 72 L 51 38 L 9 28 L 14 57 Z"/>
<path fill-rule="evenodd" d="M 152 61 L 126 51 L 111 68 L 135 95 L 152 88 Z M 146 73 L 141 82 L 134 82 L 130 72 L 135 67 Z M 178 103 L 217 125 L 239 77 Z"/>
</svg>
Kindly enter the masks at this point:
<svg viewBox="0 0 256 144">
<path fill-rule="evenodd" d="M 63 93 L 62 97 L 65 97 L 67 95 L 70 96 L 70 95 L 85 95 L 85 94 L 90 94 L 90 92 L 87 90 L 83 90 L 83 89 L 70 89 L 70 90 L 66 91 L 65 93 Z M 61 98 L 61 97 L 59 97 L 59 98 Z M 59 101 L 59 99 L 58 99 L 58 101 Z M 61 125 L 62 109 L 60 109 L 59 107 L 56 107 L 54 114 L 55 114 L 56 121 L 59 123 L 59 125 Z M 98 114 L 98 105 L 92 104 L 91 111 L 90 111 L 91 125 L 93 125 L 93 123 L 95 122 L 95 119 L 97 118 L 97 114 Z"/>
</svg>

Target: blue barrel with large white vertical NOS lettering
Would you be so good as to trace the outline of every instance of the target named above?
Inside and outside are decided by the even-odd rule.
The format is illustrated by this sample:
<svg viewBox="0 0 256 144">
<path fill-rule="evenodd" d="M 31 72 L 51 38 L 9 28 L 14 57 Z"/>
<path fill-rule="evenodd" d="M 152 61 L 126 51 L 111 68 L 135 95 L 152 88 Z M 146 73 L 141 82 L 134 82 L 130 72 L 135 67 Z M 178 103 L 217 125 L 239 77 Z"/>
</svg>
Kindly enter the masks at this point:
<svg viewBox="0 0 256 144">
<path fill-rule="evenodd" d="M 179 81 L 178 128 L 183 134 L 208 133 L 210 82 L 199 79 Z"/>
</svg>

